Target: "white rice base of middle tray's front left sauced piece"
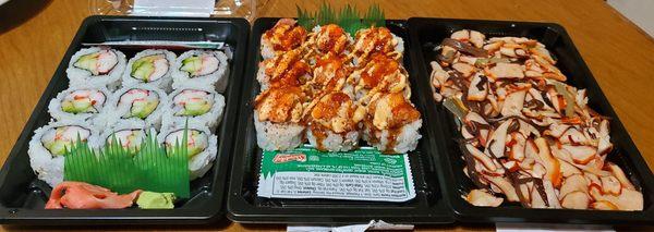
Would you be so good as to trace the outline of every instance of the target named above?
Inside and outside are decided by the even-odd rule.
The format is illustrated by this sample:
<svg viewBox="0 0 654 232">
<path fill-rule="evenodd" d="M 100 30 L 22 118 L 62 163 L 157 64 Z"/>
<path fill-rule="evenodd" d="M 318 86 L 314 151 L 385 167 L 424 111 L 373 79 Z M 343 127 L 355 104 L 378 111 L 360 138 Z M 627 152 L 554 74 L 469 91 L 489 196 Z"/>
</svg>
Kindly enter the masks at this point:
<svg viewBox="0 0 654 232">
<path fill-rule="evenodd" d="M 304 126 L 298 123 L 272 123 L 259 121 L 254 112 L 256 144 L 264 150 L 289 150 L 300 146 L 304 138 Z"/>
</svg>

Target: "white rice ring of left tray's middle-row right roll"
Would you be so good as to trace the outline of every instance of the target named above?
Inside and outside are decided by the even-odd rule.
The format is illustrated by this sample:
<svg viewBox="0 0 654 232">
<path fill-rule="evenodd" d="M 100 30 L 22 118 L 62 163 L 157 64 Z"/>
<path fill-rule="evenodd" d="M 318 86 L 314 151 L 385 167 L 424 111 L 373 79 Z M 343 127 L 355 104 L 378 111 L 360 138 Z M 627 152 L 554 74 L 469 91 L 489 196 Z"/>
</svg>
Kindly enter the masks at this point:
<svg viewBox="0 0 654 232">
<path fill-rule="evenodd" d="M 179 87 L 180 88 L 175 89 L 169 95 L 169 100 L 164 109 L 162 114 L 164 126 L 184 126 L 187 119 L 189 123 L 191 124 L 206 125 L 209 127 L 210 132 L 216 132 L 216 127 L 218 127 L 218 125 L 222 121 L 222 112 L 225 110 L 225 97 L 216 93 L 211 86 L 203 86 L 198 83 L 186 83 Z M 186 89 L 203 90 L 209 93 L 209 95 L 213 96 L 213 106 L 210 110 L 202 115 L 196 117 L 174 115 L 175 112 L 182 109 L 181 106 L 175 105 L 174 98 Z"/>
</svg>

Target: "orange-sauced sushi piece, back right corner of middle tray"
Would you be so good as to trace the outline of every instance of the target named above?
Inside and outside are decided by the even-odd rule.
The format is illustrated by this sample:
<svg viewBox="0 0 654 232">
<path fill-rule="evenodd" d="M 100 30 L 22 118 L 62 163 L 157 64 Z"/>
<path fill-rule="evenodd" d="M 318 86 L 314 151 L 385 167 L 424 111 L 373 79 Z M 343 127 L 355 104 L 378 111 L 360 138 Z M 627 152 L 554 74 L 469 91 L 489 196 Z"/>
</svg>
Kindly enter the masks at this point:
<svg viewBox="0 0 654 232">
<path fill-rule="evenodd" d="M 364 64 L 374 53 L 401 57 L 404 52 L 404 40 L 386 27 L 360 29 L 354 37 L 352 53 L 355 65 Z"/>
</svg>

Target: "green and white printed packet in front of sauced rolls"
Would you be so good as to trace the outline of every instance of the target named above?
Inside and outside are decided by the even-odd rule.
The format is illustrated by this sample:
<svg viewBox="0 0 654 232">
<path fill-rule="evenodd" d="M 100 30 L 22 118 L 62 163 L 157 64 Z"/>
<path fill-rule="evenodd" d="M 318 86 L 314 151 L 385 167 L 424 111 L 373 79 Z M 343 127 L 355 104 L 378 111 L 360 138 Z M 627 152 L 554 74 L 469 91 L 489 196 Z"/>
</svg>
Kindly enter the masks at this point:
<svg viewBox="0 0 654 232">
<path fill-rule="evenodd" d="M 409 156 L 362 147 L 323 152 L 304 145 L 264 151 L 257 195 L 266 198 L 329 198 L 407 202 L 415 197 Z"/>
</svg>

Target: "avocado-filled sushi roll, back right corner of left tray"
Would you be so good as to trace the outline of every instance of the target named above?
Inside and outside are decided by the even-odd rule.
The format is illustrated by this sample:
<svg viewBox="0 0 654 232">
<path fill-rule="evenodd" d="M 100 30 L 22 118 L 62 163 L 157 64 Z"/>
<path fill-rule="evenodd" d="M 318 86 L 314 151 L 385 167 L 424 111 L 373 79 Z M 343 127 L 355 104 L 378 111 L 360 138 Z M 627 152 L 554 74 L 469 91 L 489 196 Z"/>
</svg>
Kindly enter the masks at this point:
<svg viewBox="0 0 654 232">
<path fill-rule="evenodd" d="M 172 87 L 193 83 L 197 86 L 215 86 L 223 93 L 229 76 L 228 59 L 221 51 L 191 50 L 178 57 L 172 70 Z"/>
</svg>

